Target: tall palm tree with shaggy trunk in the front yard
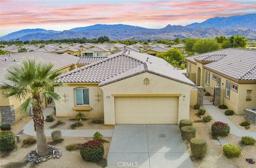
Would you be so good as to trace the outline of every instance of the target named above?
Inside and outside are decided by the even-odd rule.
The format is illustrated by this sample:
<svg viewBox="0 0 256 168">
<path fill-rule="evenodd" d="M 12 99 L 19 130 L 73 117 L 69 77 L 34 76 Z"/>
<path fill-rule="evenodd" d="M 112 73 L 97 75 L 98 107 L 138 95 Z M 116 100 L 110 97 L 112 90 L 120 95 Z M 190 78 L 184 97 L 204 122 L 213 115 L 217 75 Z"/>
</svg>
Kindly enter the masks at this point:
<svg viewBox="0 0 256 168">
<path fill-rule="evenodd" d="M 60 101 L 61 95 L 52 91 L 53 87 L 62 86 L 55 83 L 54 78 L 61 75 L 60 71 L 51 71 L 52 63 L 36 62 L 34 59 L 24 60 L 21 64 L 7 70 L 5 79 L 9 82 L 0 86 L 8 92 L 5 97 L 17 97 L 26 100 L 20 106 L 23 116 L 27 116 L 29 108 L 33 108 L 34 129 L 37 138 L 37 154 L 45 156 L 49 154 L 44 133 L 44 116 L 42 103 L 44 99 Z"/>
</svg>

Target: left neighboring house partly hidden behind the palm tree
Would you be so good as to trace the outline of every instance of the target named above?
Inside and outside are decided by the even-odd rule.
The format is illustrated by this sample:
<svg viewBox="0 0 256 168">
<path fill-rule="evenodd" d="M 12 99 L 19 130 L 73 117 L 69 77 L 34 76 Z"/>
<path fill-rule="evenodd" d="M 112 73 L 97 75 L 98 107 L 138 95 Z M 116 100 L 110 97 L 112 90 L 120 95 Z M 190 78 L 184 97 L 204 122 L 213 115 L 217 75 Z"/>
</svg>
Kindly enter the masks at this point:
<svg viewBox="0 0 256 168">
<path fill-rule="evenodd" d="M 0 85 L 3 83 L 9 83 L 4 78 L 6 69 L 9 69 L 18 63 L 21 63 L 22 60 L 26 59 L 35 59 L 36 61 L 42 61 L 45 63 L 51 62 L 54 63 L 54 70 L 70 71 L 76 68 L 76 62 L 78 57 L 74 57 L 69 54 L 54 54 L 49 52 L 23 52 L 17 54 L 7 54 L 0 55 Z M 1 111 L 1 122 L 2 123 L 14 123 L 21 119 L 22 114 L 20 111 L 20 105 L 24 102 L 22 99 L 17 99 L 15 97 L 5 98 L 4 93 L 6 90 L 0 90 L 0 111 Z M 44 101 L 44 107 L 47 105 L 47 102 Z"/>
</svg>

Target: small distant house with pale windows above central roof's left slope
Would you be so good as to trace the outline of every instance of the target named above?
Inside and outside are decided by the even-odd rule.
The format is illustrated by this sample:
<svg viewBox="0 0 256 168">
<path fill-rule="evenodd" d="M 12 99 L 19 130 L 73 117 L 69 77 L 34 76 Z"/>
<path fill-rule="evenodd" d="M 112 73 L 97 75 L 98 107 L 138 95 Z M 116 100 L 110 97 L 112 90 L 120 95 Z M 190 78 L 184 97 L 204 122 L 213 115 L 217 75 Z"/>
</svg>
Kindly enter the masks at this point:
<svg viewBox="0 0 256 168">
<path fill-rule="evenodd" d="M 85 49 L 81 52 L 83 57 L 106 57 L 110 55 L 110 50 L 103 47 L 95 46 Z"/>
</svg>

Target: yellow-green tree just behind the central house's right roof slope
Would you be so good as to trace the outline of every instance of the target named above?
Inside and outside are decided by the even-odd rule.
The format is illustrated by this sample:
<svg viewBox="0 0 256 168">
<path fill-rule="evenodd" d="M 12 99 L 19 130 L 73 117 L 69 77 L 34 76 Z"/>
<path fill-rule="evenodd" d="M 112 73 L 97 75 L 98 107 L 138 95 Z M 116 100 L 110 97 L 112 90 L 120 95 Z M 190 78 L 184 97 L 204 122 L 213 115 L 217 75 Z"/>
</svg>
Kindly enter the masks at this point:
<svg viewBox="0 0 256 168">
<path fill-rule="evenodd" d="M 156 56 L 163 58 L 166 62 L 175 67 L 179 66 L 180 61 L 184 60 L 184 56 L 178 49 L 171 49 L 166 52 L 157 53 Z"/>
</svg>

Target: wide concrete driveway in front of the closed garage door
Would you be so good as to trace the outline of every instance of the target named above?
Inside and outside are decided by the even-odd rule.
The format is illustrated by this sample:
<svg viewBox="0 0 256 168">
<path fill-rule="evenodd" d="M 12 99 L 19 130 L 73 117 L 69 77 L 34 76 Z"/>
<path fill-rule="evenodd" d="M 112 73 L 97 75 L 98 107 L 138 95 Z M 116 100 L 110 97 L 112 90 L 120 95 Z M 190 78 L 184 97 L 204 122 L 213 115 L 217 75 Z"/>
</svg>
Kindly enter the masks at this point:
<svg viewBox="0 0 256 168">
<path fill-rule="evenodd" d="M 107 167 L 193 167 L 174 124 L 117 124 Z"/>
</svg>

